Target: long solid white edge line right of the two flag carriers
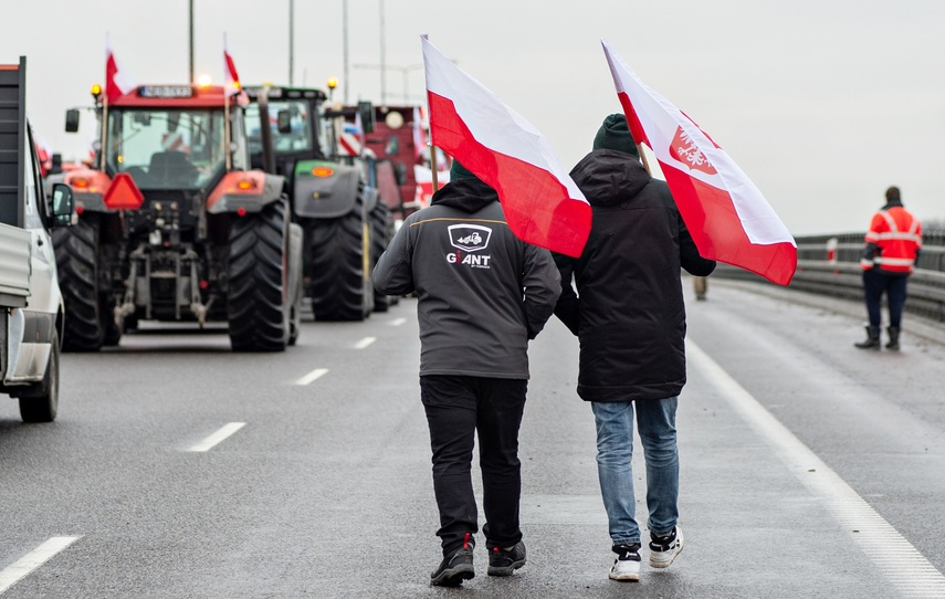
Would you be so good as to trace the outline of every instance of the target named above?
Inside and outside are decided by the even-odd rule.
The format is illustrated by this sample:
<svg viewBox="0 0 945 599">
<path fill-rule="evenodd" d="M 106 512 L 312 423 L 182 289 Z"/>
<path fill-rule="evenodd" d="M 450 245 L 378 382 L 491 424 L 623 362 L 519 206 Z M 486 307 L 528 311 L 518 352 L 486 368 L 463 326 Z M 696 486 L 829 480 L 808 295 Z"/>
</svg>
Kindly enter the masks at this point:
<svg viewBox="0 0 945 599">
<path fill-rule="evenodd" d="M 752 393 L 692 340 L 690 361 L 702 371 L 736 412 L 768 442 L 778 458 L 826 504 L 860 549 L 873 560 L 903 597 L 945 597 L 945 576 L 873 509 L 830 466 L 781 424 Z"/>
</svg>

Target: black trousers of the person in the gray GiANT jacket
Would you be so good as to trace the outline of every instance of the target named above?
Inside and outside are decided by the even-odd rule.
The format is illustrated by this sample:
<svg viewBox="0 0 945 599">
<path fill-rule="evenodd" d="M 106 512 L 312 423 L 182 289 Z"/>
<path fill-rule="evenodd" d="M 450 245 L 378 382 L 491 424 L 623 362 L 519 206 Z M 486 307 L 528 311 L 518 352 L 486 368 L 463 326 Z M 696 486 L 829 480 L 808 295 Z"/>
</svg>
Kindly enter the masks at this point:
<svg viewBox="0 0 945 599">
<path fill-rule="evenodd" d="M 440 509 L 437 536 L 443 555 L 455 551 L 466 533 L 479 529 L 471 474 L 475 432 L 486 547 L 511 547 L 522 540 L 518 427 L 527 388 L 524 379 L 420 377 L 420 399 L 427 410 L 433 450 L 433 492 Z"/>
</svg>

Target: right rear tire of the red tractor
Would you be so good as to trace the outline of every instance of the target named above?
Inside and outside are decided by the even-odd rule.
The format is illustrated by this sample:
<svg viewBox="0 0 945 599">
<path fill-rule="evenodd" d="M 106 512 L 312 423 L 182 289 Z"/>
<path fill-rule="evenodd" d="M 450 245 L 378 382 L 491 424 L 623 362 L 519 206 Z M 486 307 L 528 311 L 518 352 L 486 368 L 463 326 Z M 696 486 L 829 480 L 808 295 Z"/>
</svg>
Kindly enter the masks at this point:
<svg viewBox="0 0 945 599">
<path fill-rule="evenodd" d="M 286 202 L 230 225 L 227 318 L 233 351 L 283 351 L 291 334 Z"/>
</svg>

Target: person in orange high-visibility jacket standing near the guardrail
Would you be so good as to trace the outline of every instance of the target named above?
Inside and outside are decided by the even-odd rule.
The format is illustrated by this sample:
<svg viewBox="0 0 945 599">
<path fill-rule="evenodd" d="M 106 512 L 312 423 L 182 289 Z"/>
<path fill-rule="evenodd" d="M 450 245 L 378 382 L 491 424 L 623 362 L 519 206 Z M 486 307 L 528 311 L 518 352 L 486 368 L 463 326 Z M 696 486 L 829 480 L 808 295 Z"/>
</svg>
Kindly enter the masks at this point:
<svg viewBox="0 0 945 599">
<path fill-rule="evenodd" d="M 899 349 L 902 308 L 905 306 L 905 283 L 915 267 L 922 248 L 922 223 L 903 208 L 897 187 L 886 189 L 886 204 L 873 214 L 867 231 L 867 245 L 860 266 L 863 267 L 863 295 L 870 324 L 867 339 L 853 344 L 860 349 L 879 349 L 883 293 L 886 294 L 890 326 L 886 349 Z"/>
</svg>

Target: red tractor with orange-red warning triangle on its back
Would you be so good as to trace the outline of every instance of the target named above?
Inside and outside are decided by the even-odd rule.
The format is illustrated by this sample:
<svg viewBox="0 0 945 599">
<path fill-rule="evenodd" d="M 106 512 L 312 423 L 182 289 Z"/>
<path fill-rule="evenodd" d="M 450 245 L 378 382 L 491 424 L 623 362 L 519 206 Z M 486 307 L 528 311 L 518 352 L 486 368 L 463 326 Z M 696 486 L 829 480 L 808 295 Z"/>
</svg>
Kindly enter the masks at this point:
<svg viewBox="0 0 945 599">
<path fill-rule="evenodd" d="M 93 167 L 64 175 L 78 222 L 54 239 L 64 348 L 115 345 L 144 319 L 228 323 L 238 351 L 294 344 L 302 230 L 284 178 L 250 166 L 245 96 L 144 85 L 106 102 L 95 91 Z"/>
</svg>

